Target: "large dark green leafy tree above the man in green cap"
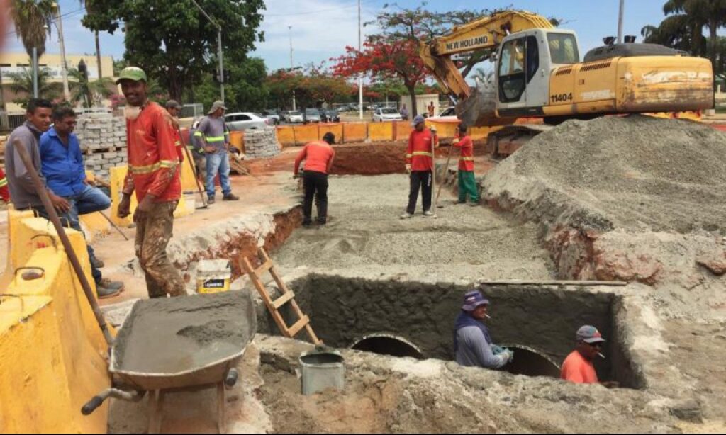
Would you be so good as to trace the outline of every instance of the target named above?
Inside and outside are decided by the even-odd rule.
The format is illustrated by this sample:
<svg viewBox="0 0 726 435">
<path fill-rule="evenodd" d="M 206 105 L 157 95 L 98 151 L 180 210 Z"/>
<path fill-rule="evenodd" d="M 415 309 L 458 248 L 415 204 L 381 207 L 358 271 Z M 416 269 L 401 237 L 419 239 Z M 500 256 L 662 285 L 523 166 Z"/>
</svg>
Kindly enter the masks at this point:
<svg viewBox="0 0 726 435">
<path fill-rule="evenodd" d="M 263 0 L 197 2 L 221 25 L 228 62 L 242 62 L 255 41 L 263 41 L 264 34 L 258 31 Z M 158 77 L 171 98 L 180 100 L 182 89 L 214 71 L 217 28 L 191 0 L 104 0 L 102 4 L 102 9 L 88 11 L 83 25 L 114 33 L 123 24 L 126 59 Z"/>
</svg>

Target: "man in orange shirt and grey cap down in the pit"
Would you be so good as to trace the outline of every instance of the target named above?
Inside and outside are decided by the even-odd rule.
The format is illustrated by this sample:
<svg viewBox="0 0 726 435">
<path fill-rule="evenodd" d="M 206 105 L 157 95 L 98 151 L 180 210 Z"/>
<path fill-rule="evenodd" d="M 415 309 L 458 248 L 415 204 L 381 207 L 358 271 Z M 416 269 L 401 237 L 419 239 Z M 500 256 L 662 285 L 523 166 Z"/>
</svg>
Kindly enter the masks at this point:
<svg viewBox="0 0 726 435">
<path fill-rule="evenodd" d="M 562 365 L 562 373 L 560 378 L 574 384 L 597 384 L 597 373 L 595 373 L 595 365 L 592 361 L 595 357 L 603 357 L 600 349 L 605 343 L 603 335 L 597 331 L 595 326 L 582 326 L 577 330 L 576 334 L 577 349 L 574 350 Z M 619 386 L 617 382 L 600 382 L 608 388 L 616 388 Z"/>
</svg>

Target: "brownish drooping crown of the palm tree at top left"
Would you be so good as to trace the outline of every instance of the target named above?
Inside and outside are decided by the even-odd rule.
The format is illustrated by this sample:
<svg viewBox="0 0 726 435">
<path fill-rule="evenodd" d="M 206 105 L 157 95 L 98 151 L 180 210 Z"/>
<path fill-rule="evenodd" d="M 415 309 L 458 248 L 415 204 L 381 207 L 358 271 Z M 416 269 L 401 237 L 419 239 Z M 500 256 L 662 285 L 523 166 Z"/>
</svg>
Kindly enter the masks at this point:
<svg viewBox="0 0 726 435">
<path fill-rule="evenodd" d="M 17 36 L 31 58 L 33 49 L 37 49 L 38 57 L 45 53 L 53 10 L 51 0 L 12 0 L 12 20 Z"/>
</svg>

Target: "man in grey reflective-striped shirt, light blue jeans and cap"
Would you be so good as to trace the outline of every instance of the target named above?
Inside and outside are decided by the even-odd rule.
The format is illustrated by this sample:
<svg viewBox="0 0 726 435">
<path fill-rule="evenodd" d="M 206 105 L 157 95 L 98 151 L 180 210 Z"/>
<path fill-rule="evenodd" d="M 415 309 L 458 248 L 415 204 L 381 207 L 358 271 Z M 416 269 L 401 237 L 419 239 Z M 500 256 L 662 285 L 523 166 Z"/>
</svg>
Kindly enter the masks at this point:
<svg viewBox="0 0 726 435">
<path fill-rule="evenodd" d="M 232 186 L 229 186 L 229 132 L 224 125 L 224 103 L 214 101 L 207 117 L 197 127 L 195 137 L 204 144 L 204 151 L 207 156 L 207 196 L 208 204 L 214 204 L 214 177 L 219 173 L 219 183 L 222 186 L 223 201 L 237 201 L 238 196 L 232 194 Z"/>
</svg>

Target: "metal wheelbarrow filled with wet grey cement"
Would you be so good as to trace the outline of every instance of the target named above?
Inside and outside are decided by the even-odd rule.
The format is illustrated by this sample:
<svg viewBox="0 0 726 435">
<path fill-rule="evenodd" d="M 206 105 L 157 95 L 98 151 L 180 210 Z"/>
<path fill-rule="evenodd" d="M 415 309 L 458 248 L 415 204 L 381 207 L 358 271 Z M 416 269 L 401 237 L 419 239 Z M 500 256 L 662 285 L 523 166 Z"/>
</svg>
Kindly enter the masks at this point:
<svg viewBox="0 0 726 435">
<path fill-rule="evenodd" d="M 148 433 L 158 434 L 166 394 L 216 388 L 217 427 L 224 433 L 226 389 L 237 384 L 235 367 L 256 329 L 246 291 L 136 302 L 111 347 L 112 388 L 81 413 L 90 415 L 108 397 L 140 402 L 149 392 Z"/>
</svg>

